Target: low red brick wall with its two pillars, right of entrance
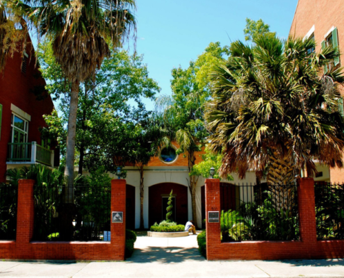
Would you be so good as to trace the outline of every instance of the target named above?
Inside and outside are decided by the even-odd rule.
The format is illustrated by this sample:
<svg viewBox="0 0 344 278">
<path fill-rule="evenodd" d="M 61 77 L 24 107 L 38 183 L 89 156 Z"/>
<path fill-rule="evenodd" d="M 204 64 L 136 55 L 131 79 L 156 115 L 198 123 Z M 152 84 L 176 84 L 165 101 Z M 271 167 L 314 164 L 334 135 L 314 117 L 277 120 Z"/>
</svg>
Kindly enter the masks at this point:
<svg viewBox="0 0 344 278">
<path fill-rule="evenodd" d="M 220 223 L 208 223 L 206 256 L 213 260 L 334 259 L 344 257 L 344 240 L 317 240 L 314 181 L 299 180 L 297 188 L 300 241 L 243 241 L 221 243 Z M 206 211 L 220 211 L 220 181 L 206 179 Z"/>
</svg>

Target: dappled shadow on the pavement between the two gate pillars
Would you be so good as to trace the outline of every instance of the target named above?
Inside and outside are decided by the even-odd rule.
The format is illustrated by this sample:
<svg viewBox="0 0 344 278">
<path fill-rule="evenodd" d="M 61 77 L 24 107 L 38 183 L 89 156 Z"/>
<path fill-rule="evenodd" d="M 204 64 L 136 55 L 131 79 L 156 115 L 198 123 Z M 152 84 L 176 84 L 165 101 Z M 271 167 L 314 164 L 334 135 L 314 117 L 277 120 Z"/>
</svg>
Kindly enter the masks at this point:
<svg viewBox="0 0 344 278">
<path fill-rule="evenodd" d="M 199 254 L 197 248 L 183 247 L 145 247 L 145 249 L 135 249 L 133 256 L 126 259 L 133 263 L 180 263 L 182 261 L 206 261 Z"/>
</svg>

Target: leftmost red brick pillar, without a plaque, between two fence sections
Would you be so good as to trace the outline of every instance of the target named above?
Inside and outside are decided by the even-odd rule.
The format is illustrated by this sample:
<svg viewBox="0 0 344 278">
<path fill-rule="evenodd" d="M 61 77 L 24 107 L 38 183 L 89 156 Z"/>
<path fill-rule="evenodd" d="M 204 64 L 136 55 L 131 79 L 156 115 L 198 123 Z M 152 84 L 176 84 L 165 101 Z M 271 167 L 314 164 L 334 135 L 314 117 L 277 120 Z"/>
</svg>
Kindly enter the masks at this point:
<svg viewBox="0 0 344 278">
<path fill-rule="evenodd" d="M 32 179 L 19 179 L 17 203 L 17 239 L 15 241 L 17 259 L 30 256 L 30 240 L 33 236 L 34 203 Z"/>
</svg>

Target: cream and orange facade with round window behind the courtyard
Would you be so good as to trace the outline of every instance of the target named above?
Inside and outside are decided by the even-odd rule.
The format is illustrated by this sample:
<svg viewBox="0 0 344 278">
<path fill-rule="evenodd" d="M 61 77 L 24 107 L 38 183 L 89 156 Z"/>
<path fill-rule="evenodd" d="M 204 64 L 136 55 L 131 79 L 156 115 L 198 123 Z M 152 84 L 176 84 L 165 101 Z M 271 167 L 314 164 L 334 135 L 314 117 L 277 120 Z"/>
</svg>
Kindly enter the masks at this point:
<svg viewBox="0 0 344 278">
<path fill-rule="evenodd" d="M 145 228 L 154 222 L 165 220 L 167 199 L 173 190 L 174 221 L 185 224 L 193 218 L 191 194 L 188 189 L 188 159 L 175 151 L 179 145 L 172 142 L 172 148 L 161 149 L 158 156 L 151 158 L 144 172 L 144 204 L 143 218 Z M 202 161 L 203 152 L 196 154 L 196 163 Z M 140 173 L 136 167 L 125 167 L 126 176 L 126 222 L 130 229 L 140 227 Z M 247 172 L 245 179 L 240 180 L 232 174 L 234 181 L 222 180 L 230 183 L 256 182 L 254 172 Z M 116 176 L 113 176 L 116 178 Z M 197 227 L 202 227 L 205 219 L 205 195 L 203 177 L 199 177 L 196 187 Z"/>
</svg>

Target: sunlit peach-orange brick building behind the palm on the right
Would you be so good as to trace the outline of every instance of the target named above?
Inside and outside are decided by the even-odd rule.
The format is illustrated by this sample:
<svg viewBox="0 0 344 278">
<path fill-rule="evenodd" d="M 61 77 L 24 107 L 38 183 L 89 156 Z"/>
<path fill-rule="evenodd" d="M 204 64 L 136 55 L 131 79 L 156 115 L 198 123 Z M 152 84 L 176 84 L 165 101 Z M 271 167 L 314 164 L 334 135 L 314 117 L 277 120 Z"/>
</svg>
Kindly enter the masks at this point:
<svg viewBox="0 0 344 278">
<path fill-rule="evenodd" d="M 334 67 L 344 66 L 344 17 L 343 0 L 299 0 L 290 35 L 295 38 L 314 38 L 316 49 L 332 44 L 341 51 L 341 57 L 334 60 Z M 344 92 L 343 92 L 344 96 Z M 339 99 L 343 104 L 343 100 Z M 315 181 L 343 182 L 344 169 L 318 165 Z"/>
</svg>

